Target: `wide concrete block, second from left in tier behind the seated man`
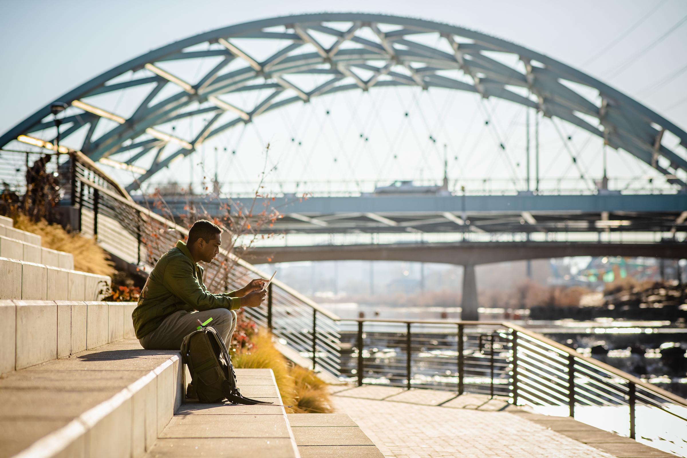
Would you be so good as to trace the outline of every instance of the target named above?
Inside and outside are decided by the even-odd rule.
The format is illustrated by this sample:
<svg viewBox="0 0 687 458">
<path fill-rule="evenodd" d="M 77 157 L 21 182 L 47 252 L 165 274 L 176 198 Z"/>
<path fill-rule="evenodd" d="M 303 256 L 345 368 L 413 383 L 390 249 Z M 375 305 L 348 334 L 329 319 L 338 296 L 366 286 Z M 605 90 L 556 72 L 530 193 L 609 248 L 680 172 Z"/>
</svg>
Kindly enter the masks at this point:
<svg viewBox="0 0 687 458">
<path fill-rule="evenodd" d="M 57 358 L 57 304 L 14 301 L 16 306 L 16 369 Z"/>
</svg>

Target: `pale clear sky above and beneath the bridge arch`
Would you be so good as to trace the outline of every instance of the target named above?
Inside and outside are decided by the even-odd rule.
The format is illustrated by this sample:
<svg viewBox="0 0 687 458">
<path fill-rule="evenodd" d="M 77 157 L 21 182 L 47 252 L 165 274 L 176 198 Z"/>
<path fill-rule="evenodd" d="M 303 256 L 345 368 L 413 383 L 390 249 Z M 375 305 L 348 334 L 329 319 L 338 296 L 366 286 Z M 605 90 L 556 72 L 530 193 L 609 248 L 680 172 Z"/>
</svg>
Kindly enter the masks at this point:
<svg viewBox="0 0 687 458">
<path fill-rule="evenodd" d="M 0 71 L 0 95 L 4 104 L 0 132 L 58 95 L 150 49 L 235 23 L 320 12 L 324 4 L 311 0 L 0 1 L 0 56 L 4 62 Z M 629 60 L 687 16 L 684 0 L 352 0 L 326 3 L 326 10 L 415 16 L 505 38 L 581 69 L 687 128 L 687 24 L 637 60 Z M 655 12 L 641 25 L 592 60 L 598 51 L 651 10 Z M 614 69 L 625 62 L 631 65 L 613 76 Z M 448 144 L 452 177 L 510 177 L 511 172 L 499 159 L 489 135 L 479 135 L 477 127 L 463 129 L 466 132 L 455 127 L 469 125 L 471 117 L 479 113 L 475 96 L 462 93 L 449 96 L 447 91 L 419 94 L 410 89 L 372 92 L 347 98 L 322 98 L 308 106 L 264 115 L 259 122 L 207 144 L 194 159 L 175 163 L 156 179 L 188 181 L 193 176 L 197 181 L 203 173 L 212 174 L 208 170 L 214 170 L 214 160 L 203 162 L 203 159 L 211 158 L 217 146 L 220 151 L 223 147 L 237 150 L 233 158 L 219 158 L 221 180 L 254 180 L 260 168 L 256 158 L 268 141 L 273 151 L 270 162 L 279 164 L 275 180 L 439 179 L 442 154 L 438 146 L 427 144 L 428 134 L 437 137 L 438 143 Z M 409 104 L 416 104 L 414 111 L 421 115 L 404 126 L 399 113 Z M 511 153 L 514 154 L 511 159 L 519 164 L 517 174 L 523 176 L 524 112 L 508 102 L 496 102 L 492 107 L 498 113 L 495 116 L 500 119 L 496 122 L 502 126 L 504 137 L 509 137 L 510 151 L 519 151 Z M 325 110 L 331 110 L 333 117 L 324 117 Z M 587 167 L 587 173 L 598 179 L 600 144 L 592 141 L 587 146 L 586 134 L 572 126 L 566 129 L 573 141 L 578 142 L 574 148 L 581 151 L 581 162 Z M 363 148 L 356 143 L 361 133 L 370 137 L 371 146 Z M 302 141 L 302 148 L 290 144 L 294 135 Z M 389 147 L 390 138 L 405 135 L 408 137 Z M 547 137 L 545 132 L 542 135 L 545 150 L 542 170 L 547 169 L 554 177 L 578 174 L 565 162 L 568 159 L 560 153 L 561 145 L 555 144 L 555 139 Z M 477 154 L 481 151 L 482 157 Z M 394 154 L 398 156 L 395 159 Z M 622 157 L 613 154 L 616 153 L 609 153 L 611 176 L 647 173 L 636 161 L 627 159 L 627 154 Z M 321 160 L 318 162 L 317 158 Z M 370 172 L 372 169 L 374 172 Z"/>
</svg>

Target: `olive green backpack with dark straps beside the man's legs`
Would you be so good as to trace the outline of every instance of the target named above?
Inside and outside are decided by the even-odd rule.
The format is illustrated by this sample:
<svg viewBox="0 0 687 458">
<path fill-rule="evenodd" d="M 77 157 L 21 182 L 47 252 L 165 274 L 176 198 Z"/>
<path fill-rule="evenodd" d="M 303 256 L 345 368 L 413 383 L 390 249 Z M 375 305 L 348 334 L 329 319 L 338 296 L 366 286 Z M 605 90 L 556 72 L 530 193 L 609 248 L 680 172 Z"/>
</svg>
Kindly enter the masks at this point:
<svg viewBox="0 0 687 458">
<path fill-rule="evenodd" d="M 183 338 L 181 361 L 188 365 L 200 402 L 272 404 L 242 396 L 227 346 L 212 326 L 201 326 Z"/>
</svg>

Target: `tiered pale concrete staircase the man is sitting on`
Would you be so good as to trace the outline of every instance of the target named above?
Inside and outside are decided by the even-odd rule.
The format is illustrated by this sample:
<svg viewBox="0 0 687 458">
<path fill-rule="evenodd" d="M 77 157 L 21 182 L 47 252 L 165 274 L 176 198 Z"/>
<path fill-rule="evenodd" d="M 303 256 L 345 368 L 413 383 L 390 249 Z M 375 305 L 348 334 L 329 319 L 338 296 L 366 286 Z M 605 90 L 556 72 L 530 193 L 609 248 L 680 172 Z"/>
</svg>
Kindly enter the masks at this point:
<svg viewBox="0 0 687 458">
<path fill-rule="evenodd" d="M 382 456 L 346 415 L 286 415 L 270 369 L 237 374 L 275 405 L 183 403 L 179 352 L 139 345 L 135 303 L 94 300 L 109 277 L 8 218 L 0 254 L 0 458 Z"/>
</svg>

